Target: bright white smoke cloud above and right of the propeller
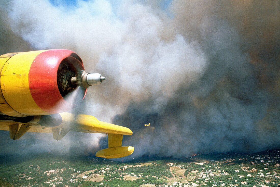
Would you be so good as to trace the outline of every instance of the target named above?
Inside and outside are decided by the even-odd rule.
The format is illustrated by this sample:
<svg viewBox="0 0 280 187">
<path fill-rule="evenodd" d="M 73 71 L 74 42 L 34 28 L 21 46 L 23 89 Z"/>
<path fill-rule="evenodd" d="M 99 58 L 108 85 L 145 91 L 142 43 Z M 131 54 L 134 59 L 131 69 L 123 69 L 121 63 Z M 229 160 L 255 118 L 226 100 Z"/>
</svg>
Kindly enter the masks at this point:
<svg viewBox="0 0 280 187">
<path fill-rule="evenodd" d="M 14 1 L 11 26 L 38 49 L 66 48 L 80 54 L 86 69 L 107 76 L 107 85 L 125 98 L 117 102 L 151 95 L 160 102 L 182 82 L 189 84 L 202 75 L 206 58 L 196 42 L 186 42 L 181 35 L 167 42 L 162 38 L 166 17 L 143 4 L 123 7 L 120 13 L 125 18 L 120 19 L 103 0 L 77 1 L 77 8 L 68 12 L 48 1 L 36 5 Z M 97 88 L 107 97 L 92 97 L 104 102 L 117 95 L 108 86 Z"/>
</svg>

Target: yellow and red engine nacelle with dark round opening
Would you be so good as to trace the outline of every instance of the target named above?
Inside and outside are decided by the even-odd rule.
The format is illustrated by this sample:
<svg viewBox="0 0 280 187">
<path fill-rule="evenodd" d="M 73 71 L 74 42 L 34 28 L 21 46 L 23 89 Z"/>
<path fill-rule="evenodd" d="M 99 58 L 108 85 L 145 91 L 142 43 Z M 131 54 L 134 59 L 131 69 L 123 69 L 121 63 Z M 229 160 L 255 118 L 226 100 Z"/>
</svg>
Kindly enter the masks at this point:
<svg viewBox="0 0 280 187">
<path fill-rule="evenodd" d="M 84 67 L 73 51 L 52 49 L 1 55 L 0 69 L 0 111 L 23 117 L 70 110 L 65 97 L 77 87 L 71 78 Z"/>
</svg>

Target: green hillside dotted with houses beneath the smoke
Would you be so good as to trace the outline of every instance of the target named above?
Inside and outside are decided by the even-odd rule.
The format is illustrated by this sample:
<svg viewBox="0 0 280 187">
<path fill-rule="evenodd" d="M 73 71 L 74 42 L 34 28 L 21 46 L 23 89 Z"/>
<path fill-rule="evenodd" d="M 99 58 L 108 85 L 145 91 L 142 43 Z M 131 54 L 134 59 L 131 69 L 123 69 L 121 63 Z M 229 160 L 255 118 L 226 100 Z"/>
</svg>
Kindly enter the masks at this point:
<svg viewBox="0 0 280 187">
<path fill-rule="evenodd" d="M 130 162 L 48 153 L 0 158 L 0 186 L 280 186 L 280 150 Z"/>
</svg>

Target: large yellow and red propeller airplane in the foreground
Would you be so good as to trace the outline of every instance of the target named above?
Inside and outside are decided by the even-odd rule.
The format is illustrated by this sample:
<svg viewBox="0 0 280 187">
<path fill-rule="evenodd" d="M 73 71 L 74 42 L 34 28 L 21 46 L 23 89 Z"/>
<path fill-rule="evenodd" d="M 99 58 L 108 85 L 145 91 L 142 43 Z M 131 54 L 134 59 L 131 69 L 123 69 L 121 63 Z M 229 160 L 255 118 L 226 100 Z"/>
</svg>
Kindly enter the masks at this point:
<svg viewBox="0 0 280 187">
<path fill-rule="evenodd" d="M 122 146 L 123 135 L 132 135 L 129 128 L 67 112 L 74 106 L 69 95 L 81 88 L 84 99 L 88 87 L 105 80 L 86 72 L 78 54 L 66 49 L 3 54 L 0 72 L 0 130 L 10 131 L 11 139 L 26 132 L 52 133 L 55 140 L 69 131 L 104 133 L 108 148 L 95 156 L 110 159 L 133 153 L 134 147 Z"/>
</svg>

